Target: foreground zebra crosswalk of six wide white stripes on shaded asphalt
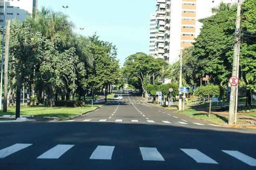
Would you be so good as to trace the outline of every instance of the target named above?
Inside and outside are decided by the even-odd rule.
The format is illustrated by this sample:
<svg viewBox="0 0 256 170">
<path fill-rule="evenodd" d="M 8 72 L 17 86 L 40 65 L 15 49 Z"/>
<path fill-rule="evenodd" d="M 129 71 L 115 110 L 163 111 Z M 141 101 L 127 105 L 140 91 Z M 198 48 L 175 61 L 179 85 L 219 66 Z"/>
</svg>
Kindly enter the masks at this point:
<svg viewBox="0 0 256 170">
<path fill-rule="evenodd" d="M 22 154 L 26 154 L 29 152 L 29 149 L 32 148 L 33 144 L 28 143 L 17 143 L 10 147 L 6 147 L 1 149 L 0 148 L 0 159 L 5 159 L 10 155 L 15 156 L 17 152 L 21 152 Z M 39 146 L 34 146 L 39 147 Z M 43 153 L 38 153 L 38 157 L 35 159 L 60 159 L 64 154 L 67 154 L 70 150 L 75 149 L 76 152 L 80 152 L 81 146 L 76 145 L 56 145 L 55 147 L 49 148 Z M 98 145 L 96 148 L 92 148 L 92 150 L 88 150 L 88 153 L 84 153 L 85 155 L 90 155 L 90 157 L 84 157 L 85 159 L 93 159 L 93 160 L 112 160 L 113 157 L 120 158 L 126 156 L 126 151 L 123 150 L 122 152 L 114 152 L 116 149 L 115 146 L 107 146 L 107 145 Z M 120 148 L 118 148 L 120 149 Z M 172 153 L 172 150 L 159 150 L 156 147 L 138 147 L 138 149 L 132 150 L 134 154 L 141 155 L 142 161 L 175 161 L 175 156 L 170 159 L 168 154 L 179 155 L 177 158 L 190 158 L 194 160 L 198 164 L 220 164 L 218 160 L 220 160 L 219 156 L 208 156 L 209 150 L 203 152 L 202 150 L 198 149 L 190 149 L 190 148 L 181 148 L 176 150 Z M 162 152 L 162 153 L 161 153 Z M 166 155 L 166 152 L 168 154 Z M 216 152 L 216 150 L 215 150 Z M 74 153 L 74 152 L 71 152 Z M 70 154 L 70 153 L 69 153 Z M 83 153 L 82 153 L 83 154 Z M 122 155 L 120 155 L 122 154 Z M 229 159 L 234 161 L 240 161 L 248 166 L 256 166 L 256 159 L 250 155 L 246 155 L 238 150 L 218 150 L 218 154 L 227 154 L 229 155 Z M 20 154 L 18 154 L 20 155 Z M 181 157 L 180 157 L 181 155 Z M 26 155 L 24 155 L 26 156 Z M 72 157 L 73 158 L 73 157 Z M 74 157 L 75 158 L 75 157 Z M 130 158 L 126 158 L 130 159 Z M 131 158 L 132 159 L 132 158 Z M 220 161 L 222 162 L 222 161 Z"/>
</svg>

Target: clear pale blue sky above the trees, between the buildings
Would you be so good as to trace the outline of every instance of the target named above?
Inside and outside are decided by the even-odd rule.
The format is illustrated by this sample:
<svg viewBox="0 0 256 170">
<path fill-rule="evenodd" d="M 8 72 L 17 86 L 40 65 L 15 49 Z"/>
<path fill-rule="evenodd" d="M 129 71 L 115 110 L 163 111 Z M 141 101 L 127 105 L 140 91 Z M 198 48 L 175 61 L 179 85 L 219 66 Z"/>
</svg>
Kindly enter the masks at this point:
<svg viewBox="0 0 256 170">
<path fill-rule="evenodd" d="M 118 48 L 120 64 L 136 52 L 149 53 L 150 13 L 156 0 L 38 0 L 38 8 L 46 6 L 66 14 L 83 35 L 97 32 L 100 39 L 110 41 Z M 80 33 L 80 31 L 78 31 Z"/>
</svg>

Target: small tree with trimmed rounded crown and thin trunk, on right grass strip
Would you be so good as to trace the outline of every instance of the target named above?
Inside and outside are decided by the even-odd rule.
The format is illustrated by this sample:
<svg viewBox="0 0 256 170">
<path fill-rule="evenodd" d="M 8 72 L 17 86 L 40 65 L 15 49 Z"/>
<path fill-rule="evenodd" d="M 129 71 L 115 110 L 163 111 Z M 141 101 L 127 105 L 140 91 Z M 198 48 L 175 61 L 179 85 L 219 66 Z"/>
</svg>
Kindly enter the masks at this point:
<svg viewBox="0 0 256 170">
<path fill-rule="evenodd" d="M 207 84 L 206 86 L 201 86 L 196 89 L 196 96 L 200 98 L 209 98 L 210 107 L 209 107 L 209 114 L 211 114 L 212 109 L 212 98 L 219 97 L 221 94 L 220 86 L 215 86 L 213 84 Z"/>
</svg>

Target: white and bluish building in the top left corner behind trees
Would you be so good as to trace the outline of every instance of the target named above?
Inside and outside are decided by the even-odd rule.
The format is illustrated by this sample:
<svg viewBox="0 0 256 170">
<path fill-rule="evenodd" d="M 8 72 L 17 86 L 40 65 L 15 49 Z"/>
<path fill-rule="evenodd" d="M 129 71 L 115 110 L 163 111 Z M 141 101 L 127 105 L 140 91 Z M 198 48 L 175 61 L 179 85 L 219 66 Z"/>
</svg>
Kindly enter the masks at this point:
<svg viewBox="0 0 256 170">
<path fill-rule="evenodd" d="M 33 11 L 37 9 L 37 1 L 38 0 L 0 0 L 0 25 L 3 25 L 4 15 L 6 20 L 16 19 L 21 22 L 24 21 L 27 16 L 31 16 Z"/>
</svg>

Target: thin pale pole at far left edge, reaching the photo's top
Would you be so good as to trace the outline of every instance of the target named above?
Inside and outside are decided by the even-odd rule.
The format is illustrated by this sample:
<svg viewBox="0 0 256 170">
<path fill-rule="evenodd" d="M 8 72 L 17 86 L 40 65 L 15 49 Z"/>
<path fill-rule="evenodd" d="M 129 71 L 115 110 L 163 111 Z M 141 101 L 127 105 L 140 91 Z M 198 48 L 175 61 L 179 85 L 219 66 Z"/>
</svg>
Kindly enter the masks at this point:
<svg viewBox="0 0 256 170">
<path fill-rule="evenodd" d="M 4 22 L 2 29 L 2 60 L 1 60 L 1 85 L 0 85 L 0 109 L 2 109 L 2 92 L 3 92 L 3 69 L 4 69 L 4 27 L 5 27 L 5 0 L 4 0 Z"/>
</svg>

